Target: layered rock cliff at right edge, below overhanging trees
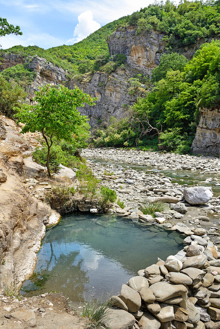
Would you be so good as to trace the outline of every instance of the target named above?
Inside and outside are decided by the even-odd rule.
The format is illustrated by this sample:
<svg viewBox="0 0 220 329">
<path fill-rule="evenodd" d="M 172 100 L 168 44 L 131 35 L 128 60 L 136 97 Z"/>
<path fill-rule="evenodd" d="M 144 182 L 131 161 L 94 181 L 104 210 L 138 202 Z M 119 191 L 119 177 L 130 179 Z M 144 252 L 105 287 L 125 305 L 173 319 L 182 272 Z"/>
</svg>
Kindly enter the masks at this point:
<svg viewBox="0 0 220 329">
<path fill-rule="evenodd" d="M 192 150 L 194 154 L 220 156 L 220 108 L 200 109 Z"/>
</svg>

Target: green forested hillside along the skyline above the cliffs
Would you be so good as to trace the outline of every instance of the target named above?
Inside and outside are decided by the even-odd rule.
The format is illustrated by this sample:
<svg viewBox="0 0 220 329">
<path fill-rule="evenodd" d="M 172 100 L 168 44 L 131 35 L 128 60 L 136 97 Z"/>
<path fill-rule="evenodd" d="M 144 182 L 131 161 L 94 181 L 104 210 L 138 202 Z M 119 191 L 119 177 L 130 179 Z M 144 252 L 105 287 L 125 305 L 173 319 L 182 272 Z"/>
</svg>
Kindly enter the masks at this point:
<svg viewBox="0 0 220 329">
<path fill-rule="evenodd" d="M 106 64 L 109 55 L 106 39 L 115 28 L 127 25 L 137 26 L 137 34 L 152 30 L 163 33 L 168 49 L 173 51 L 179 46 L 196 43 L 198 38 L 220 35 L 220 3 L 219 0 L 184 0 L 176 6 L 170 0 L 164 4 L 158 2 L 101 27 L 74 45 L 52 47 L 47 50 L 37 46 L 14 46 L 8 51 L 24 56 L 38 55 L 72 73 L 85 73 L 97 69 L 97 66 L 93 66 L 97 56 L 101 56 L 101 64 Z M 98 66 L 100 68 L 100 65 Z"/>
</svg>

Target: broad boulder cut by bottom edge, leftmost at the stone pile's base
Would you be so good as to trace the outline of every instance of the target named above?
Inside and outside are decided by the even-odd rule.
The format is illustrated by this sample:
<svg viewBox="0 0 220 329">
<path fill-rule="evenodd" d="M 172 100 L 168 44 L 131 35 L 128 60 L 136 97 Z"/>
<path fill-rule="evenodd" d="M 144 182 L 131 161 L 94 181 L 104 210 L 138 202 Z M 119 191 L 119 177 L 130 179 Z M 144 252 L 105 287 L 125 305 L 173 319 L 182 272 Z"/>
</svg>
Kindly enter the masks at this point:
<svg viewBox="0 0 220 329">
<path fill-rule="evenodd" d="M 109 309 L 107 318 L 105 324 L 111 329 L 129 329 L 136 321 L 132 314 L 117 309 Z"/>
</svg>

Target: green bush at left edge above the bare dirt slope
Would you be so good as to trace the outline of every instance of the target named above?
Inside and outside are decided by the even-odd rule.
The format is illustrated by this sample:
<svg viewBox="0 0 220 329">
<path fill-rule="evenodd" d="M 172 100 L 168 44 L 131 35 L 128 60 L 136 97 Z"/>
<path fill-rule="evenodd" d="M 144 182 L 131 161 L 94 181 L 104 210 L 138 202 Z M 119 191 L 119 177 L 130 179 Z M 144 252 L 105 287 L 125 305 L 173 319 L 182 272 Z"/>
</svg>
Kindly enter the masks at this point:
<svg viewBox="0 0 220 329">
<path fill-rule="evenodd" d="M 0 113 L 13 117 L 16 113 L 14 107 L 20 109 L 25 96 L 25 91 L 19 85 L 8 82 L 0 74 Z"/>
</svg>

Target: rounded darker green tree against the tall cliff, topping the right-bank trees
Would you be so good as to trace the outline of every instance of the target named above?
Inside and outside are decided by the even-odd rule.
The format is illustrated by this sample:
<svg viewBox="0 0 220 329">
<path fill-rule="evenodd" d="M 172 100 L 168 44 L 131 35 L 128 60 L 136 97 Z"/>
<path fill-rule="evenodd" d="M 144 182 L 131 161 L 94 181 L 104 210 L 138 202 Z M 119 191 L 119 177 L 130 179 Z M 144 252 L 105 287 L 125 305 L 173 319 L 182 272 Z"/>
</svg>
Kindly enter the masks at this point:
<svg viewBox="0 0 220 329">
<path fill-rule="evenodd" d="M 163 54 L 160 58 L 160 64 L 152 70 L 152 82 L 164 79 L 168 71 L 182 71 L 187 62 L 183 55 L 177 53 Z"/>
</svg>

